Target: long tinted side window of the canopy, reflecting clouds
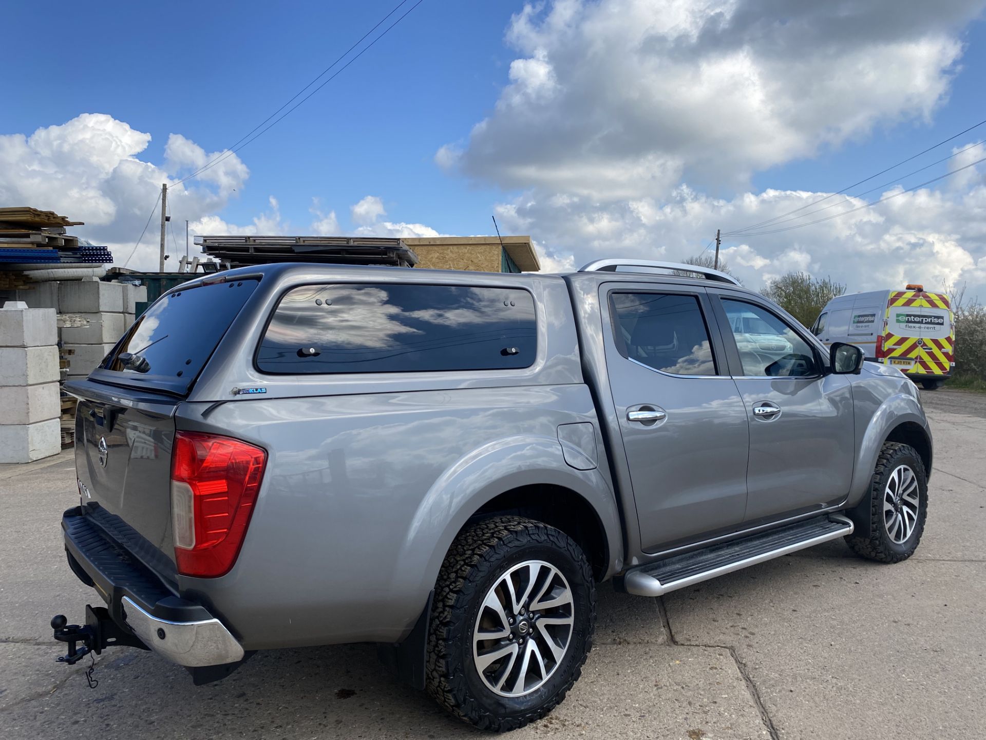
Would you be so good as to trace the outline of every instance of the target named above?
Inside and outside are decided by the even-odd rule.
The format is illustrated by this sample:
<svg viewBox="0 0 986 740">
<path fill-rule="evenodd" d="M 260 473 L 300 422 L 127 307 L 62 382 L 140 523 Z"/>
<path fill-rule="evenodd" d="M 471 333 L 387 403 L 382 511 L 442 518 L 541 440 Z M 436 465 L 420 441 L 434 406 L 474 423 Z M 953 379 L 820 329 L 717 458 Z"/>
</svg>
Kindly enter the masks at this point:
<svg viewBox="0 0 986 740">
<path fill-rule="evenodd" d="M 267 373 L 394 373 L 529 367 L 534 302 L 517 288 L 336 284 L 294 288 L 257 350 Z"/>
</svg>

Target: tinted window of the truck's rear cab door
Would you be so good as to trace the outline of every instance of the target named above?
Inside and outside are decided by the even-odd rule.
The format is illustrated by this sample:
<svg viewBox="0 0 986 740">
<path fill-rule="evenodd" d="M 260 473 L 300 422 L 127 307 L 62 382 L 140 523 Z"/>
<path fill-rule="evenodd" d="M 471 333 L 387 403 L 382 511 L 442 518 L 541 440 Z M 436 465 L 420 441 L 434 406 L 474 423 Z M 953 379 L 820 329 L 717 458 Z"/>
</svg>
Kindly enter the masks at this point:
<svg viewBox="0 0 986 740">
<path fill-rule="evenodd" d="M 715 375 L 698 298 L 675 293 L 612 293 L 613 334 L 624 357 L 672 375 Z"/>
</svg>

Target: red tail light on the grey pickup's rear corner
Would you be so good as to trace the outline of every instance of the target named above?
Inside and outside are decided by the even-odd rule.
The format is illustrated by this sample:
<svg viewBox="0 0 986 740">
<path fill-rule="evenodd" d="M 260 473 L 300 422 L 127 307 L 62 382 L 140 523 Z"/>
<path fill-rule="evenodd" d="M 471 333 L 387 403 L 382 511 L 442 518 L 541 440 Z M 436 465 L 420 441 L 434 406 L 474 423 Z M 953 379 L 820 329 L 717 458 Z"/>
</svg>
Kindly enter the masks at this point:
<svg viewBox="0 0 986 740">
<path fill-rule="evenodd" d="M 225 575 L 240 555 L 267 453 L 239 439 L 179 431 L 172 453 L 178 572 Z"/>
</svg>

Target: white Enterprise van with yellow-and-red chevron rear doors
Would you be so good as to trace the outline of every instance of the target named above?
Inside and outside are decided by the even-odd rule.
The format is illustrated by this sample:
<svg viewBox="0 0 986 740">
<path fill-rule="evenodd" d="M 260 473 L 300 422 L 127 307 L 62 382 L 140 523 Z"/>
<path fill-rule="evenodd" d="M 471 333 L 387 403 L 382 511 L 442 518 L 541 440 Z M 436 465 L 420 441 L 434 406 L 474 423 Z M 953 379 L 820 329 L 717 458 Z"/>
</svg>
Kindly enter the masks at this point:
<svg viewBox="0 0 986 740">
<path fill-rule="evenodd" d="M 922 285 L 840 295 L 811 331 L 825 344 L 858 345 L 868 360 L 893 365 L 928 390 L 941 388 L 955 368 L 951 301 Z"/>
</svg>

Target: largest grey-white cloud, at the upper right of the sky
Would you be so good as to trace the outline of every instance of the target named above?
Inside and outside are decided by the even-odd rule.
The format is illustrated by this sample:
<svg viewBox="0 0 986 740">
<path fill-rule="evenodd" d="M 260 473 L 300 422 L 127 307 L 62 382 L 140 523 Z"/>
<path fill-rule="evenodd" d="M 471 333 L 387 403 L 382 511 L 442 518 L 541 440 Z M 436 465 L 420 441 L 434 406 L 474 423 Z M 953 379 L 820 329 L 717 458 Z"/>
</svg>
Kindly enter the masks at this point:
<svg viewBox="0 0 986 740">
<path fill-rule="evenodd" d="M 555 0 L 516 14 L 494 110 L 439 165 L 507 188 L 742 186 L 877 123 L 927 120 L 981 0 Z"/>
</svg>

